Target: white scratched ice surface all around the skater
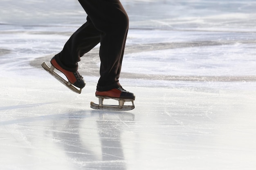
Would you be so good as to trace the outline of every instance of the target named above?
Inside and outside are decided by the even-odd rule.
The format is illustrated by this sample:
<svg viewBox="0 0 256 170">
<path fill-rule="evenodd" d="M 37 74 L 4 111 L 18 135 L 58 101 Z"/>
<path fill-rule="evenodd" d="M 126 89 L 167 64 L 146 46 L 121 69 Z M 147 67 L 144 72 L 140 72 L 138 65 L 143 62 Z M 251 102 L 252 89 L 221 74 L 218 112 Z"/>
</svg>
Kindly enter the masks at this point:
<svg viewBox="0 0 256 170">
<path fill-rule="evenodd" d="M 1 0 L 0 170 L 255 170 L 256 1 L 121 2 L 135 109 L 110 112 L 90 108 L 99 46 L 81 94 L 40 66 L 86 21 L 79 2 Z"/>
</svg>

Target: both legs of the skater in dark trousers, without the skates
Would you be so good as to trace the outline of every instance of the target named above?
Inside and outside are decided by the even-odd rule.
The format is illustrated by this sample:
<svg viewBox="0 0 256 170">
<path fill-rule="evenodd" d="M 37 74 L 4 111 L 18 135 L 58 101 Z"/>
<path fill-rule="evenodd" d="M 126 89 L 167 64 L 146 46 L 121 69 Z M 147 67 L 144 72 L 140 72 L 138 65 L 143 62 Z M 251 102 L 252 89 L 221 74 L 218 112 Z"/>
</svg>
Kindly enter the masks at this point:
<svg viewBox="0 0 256 170">
<path fill-rule="evenodd" d="M 88 14 L 83 24 L 66 42 L 55 60 L 63 69 L 76 72 L 80 57 L 101 44 L 100 78 L 97 91 L 120 86 L 119 75 L 128 32 L 128 15 L 119 0 L 79 0 Z"/>
</svg>

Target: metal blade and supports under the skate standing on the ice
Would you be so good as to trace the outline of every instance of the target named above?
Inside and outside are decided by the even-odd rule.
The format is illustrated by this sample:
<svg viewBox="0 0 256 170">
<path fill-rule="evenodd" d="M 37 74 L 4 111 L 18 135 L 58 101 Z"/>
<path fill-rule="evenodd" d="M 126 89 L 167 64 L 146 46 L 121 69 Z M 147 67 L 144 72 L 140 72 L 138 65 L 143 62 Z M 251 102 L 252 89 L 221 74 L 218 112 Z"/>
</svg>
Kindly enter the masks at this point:
<svg viewBox="0 0 256 170">
<path fill-rule="evenodd" d="M 110 111 L 128 111 L 135 108 L 133 99 L 119 99 L 119 98 L 110 98 L 110 97 L 101 97 L 96 96 L 99 98 L 99 104 L 95 104 L 91 102 L 91 108 L 96 110 L 110 110 Z M 119 102 L 119 105 L 105 105 L 103 104 L 104 99 L 115 99 Z M 132 102 L 131 106 L 124 106 L 124 102 Z"/>
</svg>

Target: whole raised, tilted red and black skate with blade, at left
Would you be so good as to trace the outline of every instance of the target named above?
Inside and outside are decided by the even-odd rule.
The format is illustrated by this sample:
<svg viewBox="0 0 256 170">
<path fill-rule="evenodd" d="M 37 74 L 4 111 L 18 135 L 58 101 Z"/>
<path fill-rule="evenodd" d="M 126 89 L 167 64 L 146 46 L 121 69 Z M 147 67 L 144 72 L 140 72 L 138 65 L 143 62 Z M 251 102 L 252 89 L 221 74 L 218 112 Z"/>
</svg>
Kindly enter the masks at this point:
<svg viewBox="0 0 256 170">
<path fill-rule="evenodd" d="M 83 77 L 76 71 L 76 72 L 70 72 L 66 71 L 61 66 L 59 66 L 54 59 L 54 57 L 51 60 L 52 66 L 49 67 L 45 62 L 41 64 L 41 66 L 48 71 L 53 77 L 55 77 L 58 81 L 60 81 L 62 84 L 70 88 L 70 90 L 74 91 L 75 93 L 81 93 L 82 88 L 85 86 L 85 81 Z M 61 71 L 68 79 L 66 81 L 63 79 L 60 75 L 54 72 L 54 69 L 57 69 L 58 71 Z M 77 88 L 76 88 L 77 87 Z M 78 89 L 79 88 L 79 89 Z"/>
</svg>

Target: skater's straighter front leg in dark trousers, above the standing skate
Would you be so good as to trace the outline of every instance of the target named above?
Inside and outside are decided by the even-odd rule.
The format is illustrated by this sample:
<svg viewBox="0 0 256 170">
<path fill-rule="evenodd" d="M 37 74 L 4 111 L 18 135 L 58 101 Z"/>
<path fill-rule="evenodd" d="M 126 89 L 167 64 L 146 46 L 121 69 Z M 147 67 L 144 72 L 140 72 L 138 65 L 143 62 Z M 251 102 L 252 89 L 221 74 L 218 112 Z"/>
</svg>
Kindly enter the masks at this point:
<svg viewBox="0 0 256 170">
<path fill-rule="evenodd" d="M 101 32 L 100 75 L 97 91 L 120 86 L 119 75 L 128 32 L 128 15 L 119 0 L 79 0 L 93 25 Z"/>
</svg>

